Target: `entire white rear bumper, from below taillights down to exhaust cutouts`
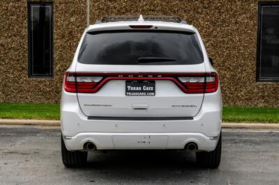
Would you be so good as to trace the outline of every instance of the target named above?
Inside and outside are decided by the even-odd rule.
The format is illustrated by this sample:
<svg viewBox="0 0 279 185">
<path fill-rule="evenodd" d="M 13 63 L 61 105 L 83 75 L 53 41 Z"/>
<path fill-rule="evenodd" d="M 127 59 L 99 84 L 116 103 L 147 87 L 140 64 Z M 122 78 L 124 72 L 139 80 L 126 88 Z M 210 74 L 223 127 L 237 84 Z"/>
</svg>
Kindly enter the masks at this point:
<svg viewBox="0 0 279 185">
<path fill-rule="evenodd" d="M 74 93 L 63 91 L 61 99 L 61 131 L 68 150 L 82 150 L 84 143 L 91 141 L 98 150 L 183 149 L 186 143 L 195 142 L 198 150 L 211 151 L 216 147 L 221 120 L 220 90 L 205 94 L 199 113 L 188 120 L 89 119 Z"/>
</svg>

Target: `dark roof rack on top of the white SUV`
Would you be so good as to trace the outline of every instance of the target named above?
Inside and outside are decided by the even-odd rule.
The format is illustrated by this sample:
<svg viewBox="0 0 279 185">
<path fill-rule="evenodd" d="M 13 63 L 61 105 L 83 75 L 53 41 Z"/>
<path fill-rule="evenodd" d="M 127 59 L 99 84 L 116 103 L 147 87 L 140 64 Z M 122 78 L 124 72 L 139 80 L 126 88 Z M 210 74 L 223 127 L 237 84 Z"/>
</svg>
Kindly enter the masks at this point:
<svg viewBox="0 0 279 185">
<path fill-rule="evenodd" d="M 165 15 L 143 15 L 144 21 L 162 21 L 162 22 L 177 22 L 182 24 L 187 24 L 186 21 L 181 20 L 178 16 L 165 16 Z M 121 22 L 121 21 L 137 21 L 139 20 L 138 15 L 115 15 L 115 16 L 107 16 L 103 17 L 101 21 L 97 21 L 98 23 L 105 22 Z"/>
</svg>

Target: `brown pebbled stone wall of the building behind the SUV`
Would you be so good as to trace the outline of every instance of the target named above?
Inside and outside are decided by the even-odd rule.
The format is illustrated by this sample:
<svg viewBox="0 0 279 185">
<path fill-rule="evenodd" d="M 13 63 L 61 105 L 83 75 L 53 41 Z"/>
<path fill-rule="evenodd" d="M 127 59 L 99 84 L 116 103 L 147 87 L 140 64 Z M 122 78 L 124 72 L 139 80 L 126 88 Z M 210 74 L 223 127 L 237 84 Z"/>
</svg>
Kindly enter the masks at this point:
<svg viewBox="0 0 279 185">
<path fill-rule="evenodd" d="M 197 27 L 220 74 L 223 102 L 279 106 L 279 83 L 256 81 L 257 1 L 90 1 L 105 15 L 178 15 Z M 86 0 L 54 0 L 54 79 L 27 74 L 27 1 L 1 1 L 0 102 L 59 102 L 63 72 L 86 27 Z"/>
</svg>

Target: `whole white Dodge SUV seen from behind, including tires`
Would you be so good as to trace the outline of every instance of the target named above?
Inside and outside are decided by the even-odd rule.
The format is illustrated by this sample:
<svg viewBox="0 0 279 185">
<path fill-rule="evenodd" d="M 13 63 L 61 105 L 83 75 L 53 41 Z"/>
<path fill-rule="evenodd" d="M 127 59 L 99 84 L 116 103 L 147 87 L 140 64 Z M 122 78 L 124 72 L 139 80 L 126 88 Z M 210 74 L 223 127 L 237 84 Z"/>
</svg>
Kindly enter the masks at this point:
<svg viewBox="0 0 279 185">
<path fill-rule="evenodd" d="M 106 17 L 86 28 L 61 97 L 66 167 L 93 150 L 187 150 L 217 168 L 222 97 L 197 29 L 177 17 Z"/>
</svg>

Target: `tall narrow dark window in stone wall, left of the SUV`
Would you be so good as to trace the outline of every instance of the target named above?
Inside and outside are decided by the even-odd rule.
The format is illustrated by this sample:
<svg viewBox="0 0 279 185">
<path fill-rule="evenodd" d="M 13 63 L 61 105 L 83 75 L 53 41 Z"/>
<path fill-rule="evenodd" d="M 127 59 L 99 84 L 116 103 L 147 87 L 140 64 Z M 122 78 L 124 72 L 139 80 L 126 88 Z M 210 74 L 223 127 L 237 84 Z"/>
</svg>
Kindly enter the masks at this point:
<svg viewBox="0 0 279 185">
<path fill-rule="evenodd" d="M 28 3 L 28 76 L 53 77 L 52 3 Z"/>
</svg>

